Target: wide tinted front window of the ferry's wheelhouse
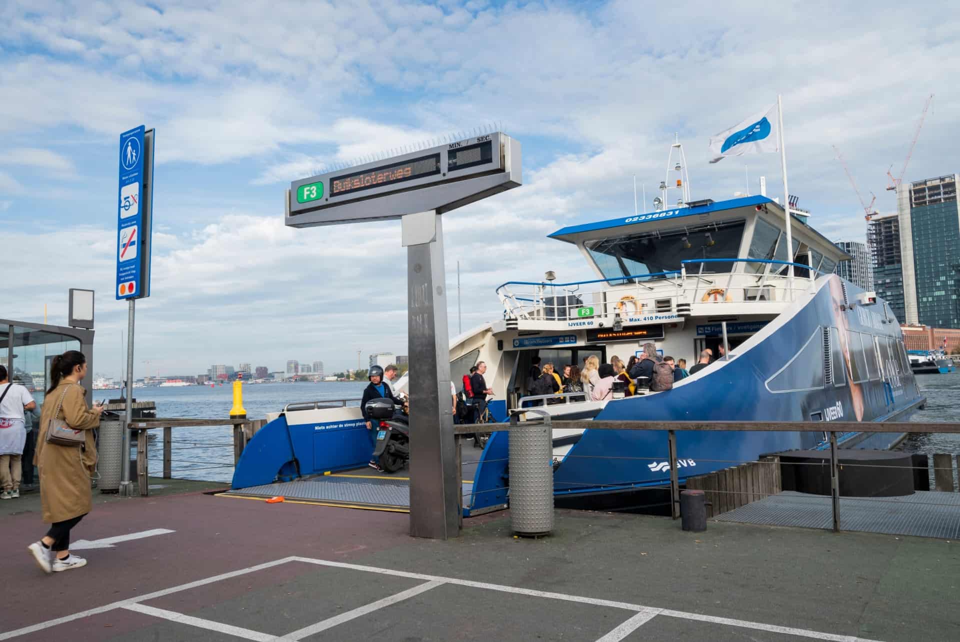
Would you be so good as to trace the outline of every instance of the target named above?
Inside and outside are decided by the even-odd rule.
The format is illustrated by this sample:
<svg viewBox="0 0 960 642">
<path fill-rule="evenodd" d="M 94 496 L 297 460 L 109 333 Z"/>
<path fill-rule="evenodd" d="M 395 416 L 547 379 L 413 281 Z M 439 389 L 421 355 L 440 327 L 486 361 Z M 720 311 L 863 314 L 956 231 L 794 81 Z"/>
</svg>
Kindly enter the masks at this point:
<svg viewBox="0 0 960 642">
<path fill-rule="evenodd" d="M 666 278 L 680 271 L 681 261 L 736 258 L 743 238 L 744 219 L 611 236 L 585 245 L 597 268 L 612 285 Z M 693 272 L 729 273 L 732 261 L 686 264 Z M 635 278 L 626 278 L 635 277 Z"/>
</svg>

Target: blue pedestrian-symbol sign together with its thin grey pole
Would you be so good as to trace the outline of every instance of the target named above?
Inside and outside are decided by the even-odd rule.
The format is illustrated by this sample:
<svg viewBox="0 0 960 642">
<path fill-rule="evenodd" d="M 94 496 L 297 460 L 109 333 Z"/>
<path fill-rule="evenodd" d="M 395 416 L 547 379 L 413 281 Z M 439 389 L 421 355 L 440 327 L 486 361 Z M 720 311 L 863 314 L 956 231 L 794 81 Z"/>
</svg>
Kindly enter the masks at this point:
<svg viewBox="0 0 960 642">
<path fill-rule="evenodd" d="M 120 134 L 120 180 L 117 204 L 117 300 L 128 301 L 127 418 L 121 446 L 120 494 L 132 495 L 130 431 L 133 418 L 134 301 L 150 296 L 150 265 L 154 202 L 154 135 L 143 125 Z"/>
</svg>

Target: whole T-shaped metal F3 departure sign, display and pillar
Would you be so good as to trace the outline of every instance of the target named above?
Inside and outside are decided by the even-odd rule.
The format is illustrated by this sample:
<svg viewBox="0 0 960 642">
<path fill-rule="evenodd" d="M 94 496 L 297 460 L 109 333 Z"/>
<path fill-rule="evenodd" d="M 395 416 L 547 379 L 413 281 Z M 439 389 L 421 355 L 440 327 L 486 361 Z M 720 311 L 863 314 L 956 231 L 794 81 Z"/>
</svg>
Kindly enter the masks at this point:
<svg viewBox="0 0 960 642">
<path fill-rule="evenodd" d="M 460 532 L 442 214 L 521 184 L 520 144 L 496 131 L 294 181 L 286 225 L 401 220 L 407 249 L 410 535 Z"/>
</svg>

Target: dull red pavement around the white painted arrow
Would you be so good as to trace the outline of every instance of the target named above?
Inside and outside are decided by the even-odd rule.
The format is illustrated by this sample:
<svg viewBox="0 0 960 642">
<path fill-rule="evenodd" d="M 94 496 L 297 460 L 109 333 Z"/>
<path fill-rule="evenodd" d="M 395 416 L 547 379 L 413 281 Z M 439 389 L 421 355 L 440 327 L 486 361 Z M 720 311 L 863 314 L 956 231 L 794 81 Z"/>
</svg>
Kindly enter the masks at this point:
<svg viewBox="0 0 960 642">
<path fill-rule="evenodd" d="M 0 609 L 0 633 L 289 556 L 347 561 L 371 549 L 396 546 L 407 539 L 408 527 L 408 514 L 388 511 L 266 504 L 203 493 L 137 497 L 95 505 L 71 539 L 152 529 L 175 533 L 78 550 L 87 560 L 84 568 L 47 575 L 27 551 L 47 529 L 39 513 L 8 515 L 0 521 L 0 541 L 5 544 L 0 547 L 0 568 L 6 586 L 16 590 L 7 591 Z M 209 584 L 194 599 L 213 604 L 252 583 L 278 583 L 310 570 L 279 564 L 239 582 Z"/>
</svg>

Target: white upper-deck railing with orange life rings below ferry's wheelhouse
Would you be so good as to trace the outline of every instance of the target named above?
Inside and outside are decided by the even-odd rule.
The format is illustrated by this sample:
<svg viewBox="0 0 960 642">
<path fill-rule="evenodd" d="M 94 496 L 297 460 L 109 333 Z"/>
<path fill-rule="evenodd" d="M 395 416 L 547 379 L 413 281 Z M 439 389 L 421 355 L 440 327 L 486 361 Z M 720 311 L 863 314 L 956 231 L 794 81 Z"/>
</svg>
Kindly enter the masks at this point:
<svg viewBox="0 0 960 642">
<path fill-rule="evenodd" d="M 709 267 L 733 264 L 729 272 Z M 743 264 L 744 272 L 736 266 Z M 792 279 L 786 268 L 792 266 Z M 753 268 L 756 272 L 747 272 Z M 567 321 L 620 315 L 682 314 L 695 303 L 793 301 L 810 292 L 821 274 L 803 263 L 776 259 L 704 258 L 681 261 L 681 269 L 586 281 L 508 281 L 496 289 L 508 318 Z M 597 286 L 591 288 L 589 286 Z M 607 286 L 607 287 L 604 287 Z"/>
</svg>

